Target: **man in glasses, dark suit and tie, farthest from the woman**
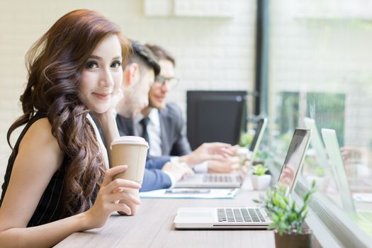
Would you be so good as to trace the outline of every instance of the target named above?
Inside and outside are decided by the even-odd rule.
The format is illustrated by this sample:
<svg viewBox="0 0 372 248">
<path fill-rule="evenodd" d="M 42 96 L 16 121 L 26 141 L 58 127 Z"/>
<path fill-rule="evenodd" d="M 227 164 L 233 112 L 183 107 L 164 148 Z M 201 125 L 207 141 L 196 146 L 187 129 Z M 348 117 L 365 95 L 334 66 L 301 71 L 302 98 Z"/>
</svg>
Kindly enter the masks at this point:
<svg viewBox="0 0 372 248">
<path fill-rule="evenodd" d="M 197 172 L 230 173 L 239 168 L 234 148 L 225 143 L 205 143 L 191 151 L 186 137 L 186 127 L 181 109 L 167 103 L 169 90 L 177 83 L 174 77 L 174 58 L 157 45 L 147 45 L 157 57 L 160 74 L 149 92 L 149 106 L 135 118 L 118 122 L 119 130 L 126 135 L 142 136 L 149 142 L 149 157 L 170 158 L 174 162 L 186 162 Z M 225 151 L 225 156 L 221 156 Z"/>
</svg>

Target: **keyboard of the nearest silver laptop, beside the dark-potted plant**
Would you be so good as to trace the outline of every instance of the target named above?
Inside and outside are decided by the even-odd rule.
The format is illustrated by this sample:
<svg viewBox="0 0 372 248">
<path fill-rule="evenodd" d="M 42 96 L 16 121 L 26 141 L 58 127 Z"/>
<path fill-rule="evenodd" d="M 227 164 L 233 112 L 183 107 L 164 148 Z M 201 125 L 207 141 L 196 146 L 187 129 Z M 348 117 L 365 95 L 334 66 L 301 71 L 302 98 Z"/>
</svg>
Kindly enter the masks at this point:
<svg viewBox="0 0 372 248">
<path fill-rule="evenodd" d="M 218 222 L 265 222 L 259 208 L 218 208 Z"/>
</svg>

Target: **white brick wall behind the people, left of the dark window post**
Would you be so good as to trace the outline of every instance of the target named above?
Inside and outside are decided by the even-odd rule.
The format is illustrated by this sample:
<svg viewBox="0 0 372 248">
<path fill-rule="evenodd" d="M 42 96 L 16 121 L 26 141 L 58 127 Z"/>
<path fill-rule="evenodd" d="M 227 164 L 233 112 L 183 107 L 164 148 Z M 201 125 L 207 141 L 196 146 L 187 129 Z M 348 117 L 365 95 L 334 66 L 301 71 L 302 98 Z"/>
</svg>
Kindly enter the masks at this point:
<svg viewBox="0 0 372 248">
<path fill-rule="evenodd" d="M 231 17 L 192 18 L 147 17 L 144 1 L 138 0 L 1 0 L 0 184 L 10 154 L 6 131 L 21 113 L 24 56 L 57 18 L 74 9 L 94 9 L 118 23 L 129 38 L 167 47 L 176 57 L 181 78 L 169 98 L 185 110 L 187 89 L 252 89 L 256 1 L 231 2 Z"/>
</svg>

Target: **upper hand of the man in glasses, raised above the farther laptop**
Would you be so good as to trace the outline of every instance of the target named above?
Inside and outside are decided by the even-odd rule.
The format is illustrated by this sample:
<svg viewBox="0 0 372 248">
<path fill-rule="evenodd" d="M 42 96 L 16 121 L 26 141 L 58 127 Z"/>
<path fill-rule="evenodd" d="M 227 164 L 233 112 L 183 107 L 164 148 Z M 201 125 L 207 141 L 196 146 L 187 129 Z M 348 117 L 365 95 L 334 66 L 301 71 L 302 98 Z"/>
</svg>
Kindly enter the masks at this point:
<svg viewBox="0 0 372 248">
<path fill-rule="evenodd" d="M 235 154 L 230 144 L 213 142 L 204 143 L 190 154 L 179 157 L 179 162 L 185 162 L 191 167 L 210 159 L 225 159 Z"/>
</svg>

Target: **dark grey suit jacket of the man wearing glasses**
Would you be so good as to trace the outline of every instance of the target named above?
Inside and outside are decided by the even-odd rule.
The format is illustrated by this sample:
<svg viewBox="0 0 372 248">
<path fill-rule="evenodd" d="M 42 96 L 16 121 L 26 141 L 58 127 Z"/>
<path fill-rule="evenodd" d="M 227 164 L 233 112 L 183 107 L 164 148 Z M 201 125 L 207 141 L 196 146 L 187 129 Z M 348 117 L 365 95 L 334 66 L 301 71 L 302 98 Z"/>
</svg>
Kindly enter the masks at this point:
<svg viewBox="0 0 372 248">
<path fill-rule="evenodd" d="M 135 130 L 142 130 L 140 123 L 133 123 L 131 118 L 117 118 L 120 135 L 136 135 Z M 183 156 L 191 151 L 186 137 L 186 126 L 181 109 L 174 103 L 159 111 L 160 140 L 162 140 L 162 158 Z M 137 126 L 135 126 L 137 125 Z M 139 133 L 137 135 L 142 135 Z M 152 158 L 152 157 L 150 157 Z"/>
</svg>

